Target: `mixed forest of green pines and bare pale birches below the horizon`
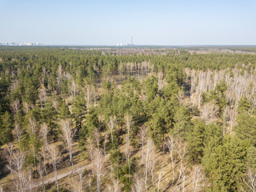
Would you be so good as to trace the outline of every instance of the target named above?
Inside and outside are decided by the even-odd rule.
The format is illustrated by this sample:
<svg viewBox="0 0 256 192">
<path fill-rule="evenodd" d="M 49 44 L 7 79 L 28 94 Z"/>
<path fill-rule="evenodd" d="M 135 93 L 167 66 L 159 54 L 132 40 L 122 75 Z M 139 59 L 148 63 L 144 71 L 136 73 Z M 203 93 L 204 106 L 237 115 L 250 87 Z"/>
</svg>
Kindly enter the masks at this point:
<svg viewBox="0 0 256 192">
<path fill-rule="evenodd" d="M 255 47 L 198 49 L 0 46 L 0 191 L 255 191 Z"/>
</svg>

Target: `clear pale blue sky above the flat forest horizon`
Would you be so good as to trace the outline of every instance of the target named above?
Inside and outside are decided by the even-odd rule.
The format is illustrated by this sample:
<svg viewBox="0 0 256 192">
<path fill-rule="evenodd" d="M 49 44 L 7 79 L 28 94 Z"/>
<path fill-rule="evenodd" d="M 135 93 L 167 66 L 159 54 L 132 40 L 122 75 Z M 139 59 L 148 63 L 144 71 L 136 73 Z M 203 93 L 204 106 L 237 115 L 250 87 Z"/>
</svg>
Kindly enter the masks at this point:
<svg viewBox="0 0 256 192">
<path fill-rule="evenodd" d="M 0 0 L 0 42 L 256 45 L 256 0 Z"/>
</svg>

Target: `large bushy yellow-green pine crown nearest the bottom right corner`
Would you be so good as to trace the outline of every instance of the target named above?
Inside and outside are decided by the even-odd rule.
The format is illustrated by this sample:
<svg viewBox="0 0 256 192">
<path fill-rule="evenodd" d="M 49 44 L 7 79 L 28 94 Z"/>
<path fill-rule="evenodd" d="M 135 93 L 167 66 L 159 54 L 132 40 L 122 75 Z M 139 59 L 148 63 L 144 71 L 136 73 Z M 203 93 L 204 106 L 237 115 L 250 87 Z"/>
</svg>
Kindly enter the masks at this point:
<svg viewBox="0 0 256 192">
<path fill-rule="evenodd" d="M 249 143 L 225 136 L 222 142 L 211 139 L 206 146 L 202 165 L 210 178 L 212 191 L 237 191 L 246 172 Z"/>
</svg>

